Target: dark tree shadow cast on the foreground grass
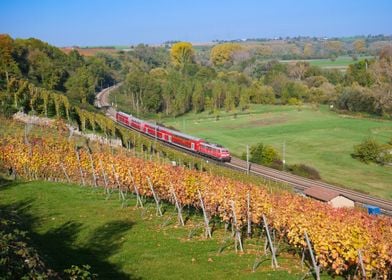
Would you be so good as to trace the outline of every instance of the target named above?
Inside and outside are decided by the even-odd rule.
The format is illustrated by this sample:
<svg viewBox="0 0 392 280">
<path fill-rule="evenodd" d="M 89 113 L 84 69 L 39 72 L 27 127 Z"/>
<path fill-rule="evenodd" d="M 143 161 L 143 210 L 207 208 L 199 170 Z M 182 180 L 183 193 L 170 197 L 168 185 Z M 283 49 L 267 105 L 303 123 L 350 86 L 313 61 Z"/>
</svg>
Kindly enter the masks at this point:
<svg viewBox="0 0 392 280">
<path fill-rule="evenodd" d="M 48 267 L 62 272 L 71 265 L 91 266 L 91 272 L 98 274 L 98 279 L 140 279 L 121 271 L 121 267 L 110 263 L 108 259 L 122 246 L 122 236 L 129 231 L 133 223 L 116 220 L 96 228 L 82 245 L 76 245 L 83 224 L 68 221 L 56 228 L 40 234 L 34 232 L 34 226 L 41 223 L 40 217 L 31 214 L 33 200 L 0 205 L 0 216 L 13 220 L 22 230 L 28 231 L 32 246 L 37 249 Z"/>
</svg>

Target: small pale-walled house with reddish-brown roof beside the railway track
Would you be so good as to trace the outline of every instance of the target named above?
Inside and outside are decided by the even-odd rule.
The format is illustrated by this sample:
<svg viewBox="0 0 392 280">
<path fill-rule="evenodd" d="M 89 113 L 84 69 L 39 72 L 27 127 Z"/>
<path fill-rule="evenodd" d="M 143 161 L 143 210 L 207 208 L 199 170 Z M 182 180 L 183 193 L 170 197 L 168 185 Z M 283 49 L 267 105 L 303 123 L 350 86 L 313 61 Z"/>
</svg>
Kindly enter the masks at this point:
<svg viewBox="0 0 392 280">
<path fill-rule="evenodd" d="M 339 192 L 320 187 L 310 187 L 304 190 L 304 194 L 311 198 L 327 202 L 334 208 L 354 207 L 354 201 L 341 195 Z"/>
</svg>

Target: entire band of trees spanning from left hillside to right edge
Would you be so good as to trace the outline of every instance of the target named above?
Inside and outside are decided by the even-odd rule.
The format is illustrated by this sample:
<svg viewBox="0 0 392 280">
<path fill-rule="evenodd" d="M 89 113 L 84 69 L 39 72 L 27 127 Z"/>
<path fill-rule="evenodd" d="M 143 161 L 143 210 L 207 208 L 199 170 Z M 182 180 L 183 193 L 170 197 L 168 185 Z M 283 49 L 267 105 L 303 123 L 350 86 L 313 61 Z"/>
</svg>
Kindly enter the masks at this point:
<svg viewBox="0 0 392 280">
<path fill-rule="evenodd" d="M 338 48 L 334 40 L 326 42 Z M 363 51 L 362 43 L 352 44 L 358 53 Z M 128 52 L 84 57 L 37 39 L 0 35 L 0 91 L 8 93 L 0 97 L 2 110 L 18 109 L 17 98 L 6 97 L 19 94 L 12 89 L 15 81 L 65 95 L 86 109 L 96 91 L 123 80 L 117 94 L 128 101 L 124 109 L 137 115 L 236 113 L 251 103 L 329 104 L 338 110 L 392 115 L 391 46 L 374 59 L 351 64 L 346 72 L 306 61 L 260 60 L 253 49 L 235 42 L 212 47 L 208 61 L 200 53 L 190 43 L 176 42 L 170 48 L 141 44 Z"/>
</svg>

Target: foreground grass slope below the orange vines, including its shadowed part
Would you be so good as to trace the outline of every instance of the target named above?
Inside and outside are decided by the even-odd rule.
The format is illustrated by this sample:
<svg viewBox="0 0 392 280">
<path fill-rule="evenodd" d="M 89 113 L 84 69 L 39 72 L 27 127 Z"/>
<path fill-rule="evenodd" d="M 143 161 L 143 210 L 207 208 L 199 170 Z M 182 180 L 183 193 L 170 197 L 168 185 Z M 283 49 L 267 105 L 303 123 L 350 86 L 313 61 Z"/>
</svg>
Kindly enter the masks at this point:
<svg viewBox="0 0 392 280">
<path fill-rule="evenodd" d="M 256 238 L 246 241 L 247 252 L 236 254 L 230 245 L 218 253 L 227 235 L 214 232 L 202 237 L 202 223 L 190 214 L 185 228 L 165 206 L 156 217 L 152 203 L 135 208 L 135 200 L 121 207 L 116 194 L 105 200 L 102 190 L 48 182 L 8 183 L 0 186 L 0 210 L 13 211 L 32 234 L 32 241 L 48 265 L 58 271 L 72 264 L 89 264 L 100 279 L 299 279 L 300 260 L 289 253 L 278 259 L 273 271 L 266 258 L 252 272 Z M 257 246 L 256 246 L 257 244 Z M 324 275 L 324 278 L 329 278 Z"/>
</svg>

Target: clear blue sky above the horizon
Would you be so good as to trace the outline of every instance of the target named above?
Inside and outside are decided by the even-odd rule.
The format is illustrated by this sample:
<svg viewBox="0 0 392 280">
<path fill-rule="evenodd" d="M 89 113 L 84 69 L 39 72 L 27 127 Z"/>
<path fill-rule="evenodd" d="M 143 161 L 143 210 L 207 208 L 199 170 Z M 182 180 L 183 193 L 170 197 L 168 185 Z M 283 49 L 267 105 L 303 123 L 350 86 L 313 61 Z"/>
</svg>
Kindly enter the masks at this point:
<svg viewBox="0 0 392 280">
<path fill-rule="evenodd" d="M 392 34 L 392 0 L 0 0 L 0 33 L 56 46 Z"/>
</svg>

